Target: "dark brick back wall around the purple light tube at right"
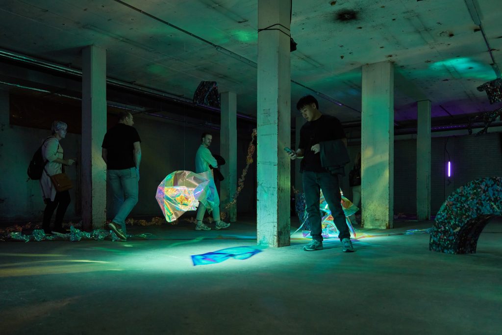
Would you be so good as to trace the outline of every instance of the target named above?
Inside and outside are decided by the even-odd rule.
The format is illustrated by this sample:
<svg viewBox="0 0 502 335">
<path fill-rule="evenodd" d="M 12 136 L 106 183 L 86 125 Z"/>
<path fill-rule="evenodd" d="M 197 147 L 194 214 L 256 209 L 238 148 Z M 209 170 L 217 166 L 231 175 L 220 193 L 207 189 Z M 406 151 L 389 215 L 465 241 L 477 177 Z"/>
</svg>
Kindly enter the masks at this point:
<svg viewBox="0 0 502 335">
<path fill-rule="evenodd" d="M 432 139 L 431 152 L 431 215 L 436 215 L 446 197 L 458 187 L 481 177 L 502 176 L 502 148 L 500 134 L 454 136 Z M 447 142 L 448 141 L 448 142 Z M 452 162 L 452 176 L 448 186 L 446 164 Z M 360 144 L 349 145 L 350 158 L 355 158 Z M 394 144 L 394 213 L 415 215 L 416 205 L 416 140 L 396 141 Z M 347 165 L 348 171 L 353 163 Z M 348 185 L 348 182 L 347 182 Z M 347 192 L 351 197 L 351 192 Z"/>
</svg>

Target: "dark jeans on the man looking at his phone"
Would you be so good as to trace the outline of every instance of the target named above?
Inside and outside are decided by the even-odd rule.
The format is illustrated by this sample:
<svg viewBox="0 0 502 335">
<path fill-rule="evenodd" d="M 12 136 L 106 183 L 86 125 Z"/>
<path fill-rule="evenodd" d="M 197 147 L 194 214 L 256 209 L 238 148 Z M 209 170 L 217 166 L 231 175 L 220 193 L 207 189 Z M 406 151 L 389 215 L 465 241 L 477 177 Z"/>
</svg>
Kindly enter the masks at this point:
<svg viewBox="0 0 502 335">
<path fill-rule="evenodd" d="M 340 186 L 338 185 L 338 175 L 329 172 L 303 171 L 303 191 L 305 192 L 305 204 L 307 206 L 308 220 L 310 224 L 310 236 L 313 240 L 322 241 L 321 236 L 321 209 L 319 199 L 320 190 L 324 194 L 324 199 L 328 203 L 329 210 L 333 216 L 333 222 L 338 229 L 340 240 L 350 239 L 350 232 L 345 222 L 345 214 L 342 209 Z"/>
</svg>

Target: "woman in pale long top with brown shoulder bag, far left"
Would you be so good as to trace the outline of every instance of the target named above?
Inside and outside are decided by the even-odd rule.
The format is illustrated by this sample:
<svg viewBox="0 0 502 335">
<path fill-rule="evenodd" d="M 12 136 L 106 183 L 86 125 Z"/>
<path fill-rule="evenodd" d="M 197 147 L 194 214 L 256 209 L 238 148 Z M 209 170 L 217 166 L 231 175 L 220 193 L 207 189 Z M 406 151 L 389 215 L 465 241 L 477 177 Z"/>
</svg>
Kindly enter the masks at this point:
<svg viewBox="0 0 502 335">
<path fill-rule="evenodd" d="M 62 223 L 66 208 L 70 204 L 70 193 L 68 189 L 58 191 L 58 188 L 61 188 L 58 185 L 57 177 L 64 174 L 64 165 L 71 166 L 75 162 L 75 159 L 64 159 L 63 147 L 59 143 L 66 137 L 67 128 L 66 123 L 54 121 L 51 128 L 52 136 L 45 139 L 42 145 L 42 157 L 47 162 L 40 178 L 42 196 L 46 204 L 42 225 L 46 234 L 65 234 Z M 54 210 L 56 210 L 56 218 L 54 229 L 51 231 L 50 222 Z"/>
</svg>

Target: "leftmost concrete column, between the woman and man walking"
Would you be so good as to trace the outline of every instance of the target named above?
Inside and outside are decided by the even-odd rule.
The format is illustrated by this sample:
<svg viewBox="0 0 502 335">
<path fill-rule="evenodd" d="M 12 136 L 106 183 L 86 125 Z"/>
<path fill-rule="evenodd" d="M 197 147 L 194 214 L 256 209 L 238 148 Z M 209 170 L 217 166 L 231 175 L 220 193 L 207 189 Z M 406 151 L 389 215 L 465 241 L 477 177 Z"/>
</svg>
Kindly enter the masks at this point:
<svg viewBox="0 0 502 335">
<path fill-rule="evenodd" d="M 106 221 L 106 164 L 101 144 L 106 133 L 106 50 L 82 50 L 82 227 Z"/>
</svg>

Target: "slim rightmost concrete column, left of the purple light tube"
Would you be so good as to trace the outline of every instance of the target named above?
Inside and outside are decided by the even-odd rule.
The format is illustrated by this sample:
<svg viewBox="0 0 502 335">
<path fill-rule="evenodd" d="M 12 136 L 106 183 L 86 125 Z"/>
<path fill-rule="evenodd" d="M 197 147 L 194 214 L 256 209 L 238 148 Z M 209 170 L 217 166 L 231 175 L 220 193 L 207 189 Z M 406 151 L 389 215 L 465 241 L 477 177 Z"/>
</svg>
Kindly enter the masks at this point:
<svg viewBox="0 0 502 335">
<path fill-rule="evenodd" d="M 417 219 L 431 217 L 431 101 L 418 101 Z"/>
</svg>

